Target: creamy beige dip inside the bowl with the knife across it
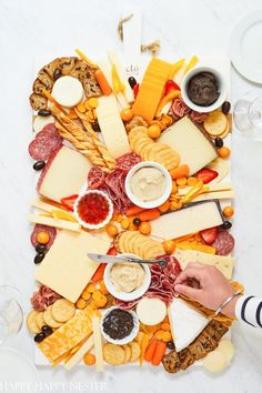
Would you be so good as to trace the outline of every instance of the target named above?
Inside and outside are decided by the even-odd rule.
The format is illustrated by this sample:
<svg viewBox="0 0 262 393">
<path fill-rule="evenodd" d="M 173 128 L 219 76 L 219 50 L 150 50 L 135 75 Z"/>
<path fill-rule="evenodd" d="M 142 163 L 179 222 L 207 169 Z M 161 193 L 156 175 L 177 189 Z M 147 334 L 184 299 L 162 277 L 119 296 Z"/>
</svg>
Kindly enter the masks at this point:
<svg viewBox="0 0 262 393">
<path fill-rule="evenodd" d="M 144 269 L 139 263 L 115 263 L 110 272 L 110 280 L 118 292 L 130 293 L 142 286 Z"/>
</svg>

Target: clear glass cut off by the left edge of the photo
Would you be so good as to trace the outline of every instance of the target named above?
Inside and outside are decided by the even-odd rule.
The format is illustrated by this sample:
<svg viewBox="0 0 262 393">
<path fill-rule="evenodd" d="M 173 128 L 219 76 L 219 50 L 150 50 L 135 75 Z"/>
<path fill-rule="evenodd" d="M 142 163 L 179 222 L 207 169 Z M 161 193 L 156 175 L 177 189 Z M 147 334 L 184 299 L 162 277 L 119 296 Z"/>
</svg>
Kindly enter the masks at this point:
<svg viewBox="0 0 262 393">
<path fill-rule="evenodd" d="M 19 333 L 23 312 L 18 289 L 10 285 L 0 285 L 0 345 Z"/>
</svg>

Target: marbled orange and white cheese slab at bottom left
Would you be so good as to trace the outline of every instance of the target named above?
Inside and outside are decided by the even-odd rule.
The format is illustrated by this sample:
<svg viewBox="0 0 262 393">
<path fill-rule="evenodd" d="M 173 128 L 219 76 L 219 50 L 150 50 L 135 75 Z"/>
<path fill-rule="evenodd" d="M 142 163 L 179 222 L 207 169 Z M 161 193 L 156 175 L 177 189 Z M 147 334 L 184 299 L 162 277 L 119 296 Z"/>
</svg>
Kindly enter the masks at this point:
<svg viewBox="0 0 262 393">
<path fill-rule="evenodd" d="M 52 363 L 92 333 L 92 316 L 97 312 L 88 306 L 54 333 L 44 339 L 38 346 Z"/>
</svg>

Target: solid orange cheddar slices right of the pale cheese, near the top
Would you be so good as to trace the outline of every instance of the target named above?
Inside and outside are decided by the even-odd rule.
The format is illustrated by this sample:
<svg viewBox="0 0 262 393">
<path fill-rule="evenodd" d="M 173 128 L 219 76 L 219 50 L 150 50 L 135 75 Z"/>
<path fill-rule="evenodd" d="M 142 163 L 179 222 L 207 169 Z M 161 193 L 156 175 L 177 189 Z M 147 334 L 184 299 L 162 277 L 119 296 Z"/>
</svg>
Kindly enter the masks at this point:
<svg viewBox="0 0 262 393">
<path fill-rule="evenodd" d="M 171 69 L 172 64 L 167 61 L 151 60 L 133 103 L 133 114 L 141 115 L 148 122 L 153 120 Z"/>
</svg>

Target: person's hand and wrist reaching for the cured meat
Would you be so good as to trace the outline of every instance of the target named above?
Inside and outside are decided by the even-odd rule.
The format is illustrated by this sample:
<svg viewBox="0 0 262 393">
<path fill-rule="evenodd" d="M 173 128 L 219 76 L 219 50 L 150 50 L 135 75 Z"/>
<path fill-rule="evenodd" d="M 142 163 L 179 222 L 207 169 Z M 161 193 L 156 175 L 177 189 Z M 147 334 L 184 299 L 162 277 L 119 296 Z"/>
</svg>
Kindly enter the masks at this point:
<svg viewBox="0 0 262 393">
<path fill-rule="evenodd" d="M 216 310 L 235 292 L 216 268 L 201 263 L 190 263 L 175 280 L 174 289 L 211 310 Z M 236 300 L 233 299 L 222 313 L 234 316 Z"/>
</svg>

